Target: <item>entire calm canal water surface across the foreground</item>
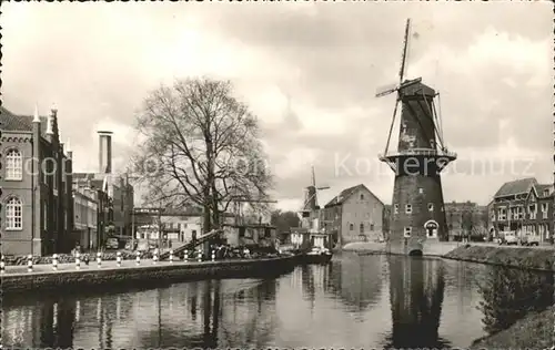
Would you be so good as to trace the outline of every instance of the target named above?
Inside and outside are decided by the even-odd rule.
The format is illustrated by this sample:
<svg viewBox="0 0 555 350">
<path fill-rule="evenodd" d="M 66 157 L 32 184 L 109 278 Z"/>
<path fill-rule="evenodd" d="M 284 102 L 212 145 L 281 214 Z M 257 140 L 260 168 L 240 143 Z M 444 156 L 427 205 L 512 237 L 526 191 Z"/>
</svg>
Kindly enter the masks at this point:
<svg viewBox="0 0 555 350">
<path fill-rule="evenodd" d="M 553 303 L 553 274 L 418 257 L 334 257 L 278 279 L 7 296 L 24 348 L 450 348 Z"/>
</svg>

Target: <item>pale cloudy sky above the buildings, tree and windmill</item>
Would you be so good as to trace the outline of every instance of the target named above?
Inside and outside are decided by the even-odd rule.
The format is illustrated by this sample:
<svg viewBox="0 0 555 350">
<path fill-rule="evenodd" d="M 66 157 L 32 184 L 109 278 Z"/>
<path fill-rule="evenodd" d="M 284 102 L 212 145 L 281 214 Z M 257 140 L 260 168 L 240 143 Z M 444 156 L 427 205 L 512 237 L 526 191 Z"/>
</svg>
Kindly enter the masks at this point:
<svg viewBox="0 0 555 350">
<path fill-rule="evenodd" d="M 145 94 L 175 78 L 231 79 L 259 116 L 280 207 L 294 209 L 315 165 L 321 203 L 364 183 L 390 203 L 377 161 L 412 18 L 407 78 L 441 93 L 445 143 L 458 159 L 445 200 L 486 204 L 515 177 L 553 178 L 553 12 L 498 3 L 8 3 L 6 107 L 59 110 L 78 171 L 97 169 L 100 127 L 122 171 Z M 398 121 L 398 120 L 397 120 Z M 396 147 L 394 131 L 392 144 Z"/>
</svg>

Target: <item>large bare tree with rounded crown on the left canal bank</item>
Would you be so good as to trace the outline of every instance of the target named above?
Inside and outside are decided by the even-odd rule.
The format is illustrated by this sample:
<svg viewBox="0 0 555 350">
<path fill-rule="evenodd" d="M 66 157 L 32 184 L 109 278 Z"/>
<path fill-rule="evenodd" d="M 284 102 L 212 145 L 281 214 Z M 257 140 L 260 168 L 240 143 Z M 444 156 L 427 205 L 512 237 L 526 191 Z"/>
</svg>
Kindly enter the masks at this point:
<svg viewBox="0 0 555 350">
<path fill-rule="evenodd" d="M 241 198 L 268 198 L 272 176 L 256 117 L 233 96 L 229 81 L 178 80 L 144 101 L 138 131 L 135 172 L 148 198 L 173 207 L 204 209 L 203 231 Z"/>
</svg>

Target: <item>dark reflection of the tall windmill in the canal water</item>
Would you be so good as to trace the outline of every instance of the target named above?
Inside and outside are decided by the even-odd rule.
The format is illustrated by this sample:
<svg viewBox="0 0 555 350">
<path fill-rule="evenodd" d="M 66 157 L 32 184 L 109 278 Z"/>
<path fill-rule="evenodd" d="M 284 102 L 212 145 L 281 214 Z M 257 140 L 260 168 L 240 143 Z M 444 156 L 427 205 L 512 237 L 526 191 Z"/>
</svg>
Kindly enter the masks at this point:
<svg viewBox="0 0 555 350">
<path fill-rule="evenodd" d="M 385 348 L 447 348 L 438 336 L 445 290 L 441 260 L 392 257 L 390 300 L 392 331 Z"/>
</svg>

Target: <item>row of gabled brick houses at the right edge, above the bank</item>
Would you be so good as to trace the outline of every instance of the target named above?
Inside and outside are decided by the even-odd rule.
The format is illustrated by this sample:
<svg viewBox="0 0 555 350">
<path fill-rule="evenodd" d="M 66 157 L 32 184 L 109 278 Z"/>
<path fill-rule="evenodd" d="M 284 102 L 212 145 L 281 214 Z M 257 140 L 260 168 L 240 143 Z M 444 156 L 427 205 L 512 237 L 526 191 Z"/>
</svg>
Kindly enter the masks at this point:
<svg viewBox="0 0 555 350">
<path fill-rule="evenodd" d="M 515 231 L 536 234 L 542 241 L 553 236 L 553 184 L 538 184 L 534 177 L 503 184 L 495 193 L 491 212 L 494 236 Z"/>
</svg>

